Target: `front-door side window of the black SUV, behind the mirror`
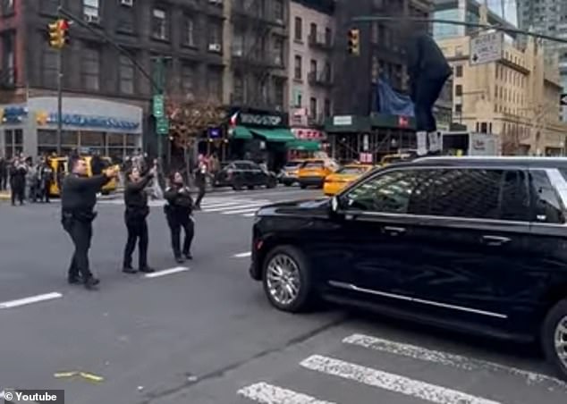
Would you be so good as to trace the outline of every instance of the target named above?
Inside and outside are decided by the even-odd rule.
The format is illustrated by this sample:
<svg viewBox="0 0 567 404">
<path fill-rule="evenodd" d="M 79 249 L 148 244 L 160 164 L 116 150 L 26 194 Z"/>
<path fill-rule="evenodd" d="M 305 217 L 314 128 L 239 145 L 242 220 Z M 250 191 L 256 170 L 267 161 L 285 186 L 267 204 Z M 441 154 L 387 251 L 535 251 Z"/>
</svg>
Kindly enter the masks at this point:
<svg viewBox="0 0 567 404">
<path fill-rule="evenodd" d="M 418 171 L 385 173 L 352 189 L 346 195 L 347 204 L 353 209 L 405 214 L 408 213 L 410 198 L 418 184 Z"/>
</svg>

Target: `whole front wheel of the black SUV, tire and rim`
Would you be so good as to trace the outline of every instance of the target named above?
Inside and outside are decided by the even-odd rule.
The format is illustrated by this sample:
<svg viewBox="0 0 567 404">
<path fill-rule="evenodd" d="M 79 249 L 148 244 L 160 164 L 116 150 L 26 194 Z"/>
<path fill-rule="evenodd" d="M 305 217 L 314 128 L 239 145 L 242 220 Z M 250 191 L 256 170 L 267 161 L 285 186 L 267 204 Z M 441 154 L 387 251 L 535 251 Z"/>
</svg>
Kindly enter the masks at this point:
<svg viewBox="0 0 567 404">
<path fill-rule="evenodd" d="M 262 283 L 267 299 L 279 310 L 307 310 L 313 298 L 311 270 L 300 249 L 276 247 L 267 253 L 262 266 Z"/>
</svg>

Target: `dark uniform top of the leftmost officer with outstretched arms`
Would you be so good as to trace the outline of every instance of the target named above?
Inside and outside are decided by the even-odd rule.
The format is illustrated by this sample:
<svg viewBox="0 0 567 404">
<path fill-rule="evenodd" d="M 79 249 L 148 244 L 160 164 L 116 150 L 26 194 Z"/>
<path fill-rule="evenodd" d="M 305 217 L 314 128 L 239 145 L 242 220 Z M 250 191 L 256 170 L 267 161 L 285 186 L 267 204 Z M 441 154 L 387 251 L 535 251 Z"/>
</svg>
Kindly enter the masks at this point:
<svg viewBox="0 0 567 404">
<path fill-rule="evenodd" d="M 75 215 L 92 215 L 97 193 L 110 181 L 106 175 L 92 177 L 69 174 L 63 180 L 61 210 Z"/>
</svg>

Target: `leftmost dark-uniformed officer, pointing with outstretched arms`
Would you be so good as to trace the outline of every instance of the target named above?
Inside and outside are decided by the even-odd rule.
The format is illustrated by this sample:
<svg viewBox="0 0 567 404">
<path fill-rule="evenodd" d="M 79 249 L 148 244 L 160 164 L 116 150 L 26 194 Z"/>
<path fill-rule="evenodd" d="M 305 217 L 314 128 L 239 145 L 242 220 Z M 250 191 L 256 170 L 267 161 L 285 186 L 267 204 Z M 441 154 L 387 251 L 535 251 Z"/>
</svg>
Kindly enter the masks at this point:
<svg viewBox="0 0 567 404">
<path fill-rule="evenodd" d="M 115 168 L 101 175 L 89 177 L 85 160 L 74 157 L 69 161 L 71 173 L 63 180 L 61 195 L 61 223 L 71 236 L 75 251 L 69 267 L 69 283 L 83 283 L 85 288 L 95 289 L 99 281 L 89 269 L 89 248 L 92 239 L 92 221 L 97 193 L 106 182 L 118 175 Z"/>
</svg>

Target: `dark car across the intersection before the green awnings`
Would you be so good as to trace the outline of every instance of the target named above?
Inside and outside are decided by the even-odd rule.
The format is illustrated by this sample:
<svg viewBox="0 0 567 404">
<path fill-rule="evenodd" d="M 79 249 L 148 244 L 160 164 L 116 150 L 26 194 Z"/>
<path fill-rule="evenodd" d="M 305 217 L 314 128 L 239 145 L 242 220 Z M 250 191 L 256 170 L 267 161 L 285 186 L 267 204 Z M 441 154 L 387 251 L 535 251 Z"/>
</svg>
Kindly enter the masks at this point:
<svg viewBox="0 0 567 404">
<path fill-rule="evenodd" d="M 277 179 L 275 173 L 264 170 L 251 161 L 233 161 L 225 164 L 216 173 L 213 180 L 215 187 L 233 187 L 235 190 L 254 189 L 255 187 L 275 188 Z"/>
</svg>

